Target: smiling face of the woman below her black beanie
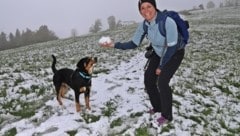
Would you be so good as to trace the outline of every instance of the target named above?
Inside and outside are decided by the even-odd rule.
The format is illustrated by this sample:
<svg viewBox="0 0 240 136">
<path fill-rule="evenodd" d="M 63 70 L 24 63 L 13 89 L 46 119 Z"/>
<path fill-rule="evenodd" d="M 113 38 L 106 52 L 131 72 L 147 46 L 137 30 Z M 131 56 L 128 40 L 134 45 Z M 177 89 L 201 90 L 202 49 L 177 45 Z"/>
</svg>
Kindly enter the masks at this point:
<svg viewBox="0 0 240 136">
<path fill-rule="evenodd" d="M 140 13 L 144 19 L 151 21 L 155 17 L 157 11 L 151 3 L 144 2 L 141 4 Z"/>
</svg>

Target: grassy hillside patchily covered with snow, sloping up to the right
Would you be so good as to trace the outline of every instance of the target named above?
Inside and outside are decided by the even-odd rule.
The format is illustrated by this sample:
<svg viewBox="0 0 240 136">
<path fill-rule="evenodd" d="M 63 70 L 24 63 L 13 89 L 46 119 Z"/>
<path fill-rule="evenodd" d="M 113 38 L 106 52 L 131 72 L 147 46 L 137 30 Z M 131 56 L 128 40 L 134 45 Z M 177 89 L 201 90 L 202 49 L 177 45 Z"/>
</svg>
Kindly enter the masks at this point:
<svg viewBox="0 0 240 136">
<path fill-rule="evenodd" d="M 144 91 L 144 42 L 122 51 L 98 46 L 101 36 L 131 39 L 136 26 L 0 52 L 0 135 L 237 135 L 240 133 L 240 8 L 195 11 L 190 43 L 171 80 L 174 120 L 156 127 Z M 52 85 L 56 67 L 75 68 L 98 57 L 90 94 L 92 110 L 75 112 L 73 91 L 59 106 Z M 81 96 L 81 104 L 84 104 Z"/>
</svg>

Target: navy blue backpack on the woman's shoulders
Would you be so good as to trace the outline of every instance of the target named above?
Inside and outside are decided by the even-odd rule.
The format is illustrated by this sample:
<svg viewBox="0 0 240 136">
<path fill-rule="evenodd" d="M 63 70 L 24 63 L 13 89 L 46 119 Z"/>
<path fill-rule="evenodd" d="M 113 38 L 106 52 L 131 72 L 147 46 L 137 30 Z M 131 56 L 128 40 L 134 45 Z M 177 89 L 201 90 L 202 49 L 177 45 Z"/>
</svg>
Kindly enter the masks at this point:
<svg viewBox="0 0 240 136">
<path fill-rule="evenodd" d="M 189 32 L 188 32 L 189 23 L 188 23 L 188 21 L 182 19 L 179 16 L 179 14 L 175 11 L 164 10 L 164 11 L 158 13 L 156 23 L 159 24 L 159 31 L 160 31 L 161 35 L 163 35 L 164 37 L 166 37 L 165 22 L 166 22 L 167 17 L 171 17 L 176 22 L 178 33 L 179 33 L 177 45 L 178 45 L 178 48 L 184 48 L 189 40 Z M 147 34 L 148 29 L 147 29 L 147 25 L 145 24 L 145 21 L 143 22 L 143 29 L 144 29 L 145 33 Z"/>
</svg>

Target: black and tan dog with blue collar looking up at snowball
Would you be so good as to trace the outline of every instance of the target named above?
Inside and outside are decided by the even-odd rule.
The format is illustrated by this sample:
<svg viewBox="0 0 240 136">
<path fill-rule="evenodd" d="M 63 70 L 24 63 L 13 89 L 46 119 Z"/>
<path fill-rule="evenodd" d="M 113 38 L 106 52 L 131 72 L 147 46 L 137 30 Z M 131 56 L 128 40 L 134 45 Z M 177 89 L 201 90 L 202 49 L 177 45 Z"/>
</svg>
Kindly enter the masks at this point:
<svg viewBox="0 0 240 136">
<path fill-rule="evenodd" d="M 79 96 L 81 93 L 84 93 L 85 104 L 87 109 L 91 110 L 89 104 L 89 97 L 91 91 L 91 78 L 94 64 L 97 62 L 97 58 L 85 57 L 82 58 L 77 63 L 76 70 L 69 68 L 56 69 L 56 57 L 52 55 L 52 71 L 53 75 L 53 84 L 57 92 L 57 101 L 62 105 L 61 98 L 64 98 L 65 93 L 68 88 L 72 88 L 75 93 L 75 102 L 76 102 L 76 111 L 81 111 Z"/>
</svg>

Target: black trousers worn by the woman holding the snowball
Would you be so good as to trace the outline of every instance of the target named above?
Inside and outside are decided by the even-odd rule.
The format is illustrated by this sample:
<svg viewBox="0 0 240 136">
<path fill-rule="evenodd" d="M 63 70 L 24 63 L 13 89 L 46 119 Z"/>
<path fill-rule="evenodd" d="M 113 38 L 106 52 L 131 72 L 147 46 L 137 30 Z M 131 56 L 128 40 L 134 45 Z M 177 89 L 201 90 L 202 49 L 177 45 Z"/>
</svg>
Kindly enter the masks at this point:
<svg viewBox="0 0 240 136">
<path fill-rule="evenodd" d="M 144 74 L 144 84 L 155 112 L 161 112 L 162 116 L 172 120 L 172 89 L 169 82 L 180 66 L 184 57 L 184 49 L 178 50 L 164 66 L 159 76 L 156 69 L 159 66 L 160 57 L 155 53 L 149 60 Z"/>
</svg>

